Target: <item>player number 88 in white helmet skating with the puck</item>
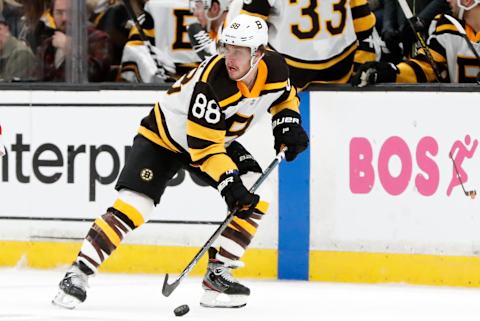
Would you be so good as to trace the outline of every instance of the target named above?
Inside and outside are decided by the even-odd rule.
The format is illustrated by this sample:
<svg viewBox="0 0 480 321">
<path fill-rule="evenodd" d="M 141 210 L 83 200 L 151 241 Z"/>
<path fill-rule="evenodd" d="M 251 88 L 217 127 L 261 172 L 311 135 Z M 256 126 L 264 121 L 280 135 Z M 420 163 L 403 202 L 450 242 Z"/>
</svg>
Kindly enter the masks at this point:
<svg viewBox="0 0 480 321">
<path fill-rule="evenodd" d="M 268 203 L 250 193 L 245 176 L 260 166 L 236 142 L 266 112 L 272 115 L 275 149 L 287 146 L 287 161 L 308 146 L 299 98 L 290 85 L 283 57 L 267 51 L 268 27 L 260 18 L 239 15 L 220 37 L 220 55 L 181 77 L 140 124 L 120 174 L 118 198 L 90 228 L 53 300 L 74 308 L 86 299 L 88 278 L 129 231 L 148 221 L 168 181 L 180 168 L 200 173 L 216 187 L 230 210 L 239 211 L 210 248 L 203 279 L 206 307 L 240 307 L 250 290 L 231 276 L 250 244 Z M 240 177 L 241 174 L 246 175 Z M 219 301 L 219 294 L 230 301 Z"/>
</svg>

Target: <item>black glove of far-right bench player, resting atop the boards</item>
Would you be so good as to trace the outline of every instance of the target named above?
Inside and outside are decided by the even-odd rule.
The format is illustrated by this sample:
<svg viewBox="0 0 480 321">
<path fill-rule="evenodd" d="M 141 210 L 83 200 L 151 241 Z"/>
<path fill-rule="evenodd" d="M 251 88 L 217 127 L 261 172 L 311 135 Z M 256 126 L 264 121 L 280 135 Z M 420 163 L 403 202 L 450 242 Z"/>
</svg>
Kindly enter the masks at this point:
<svg viewBox="0 0 480 321">
<path fill-rule="evenodd" d="M 370 61 L 358 67 L 351 83 L 353 87 L 365 87 L 381 82 L 395 82 L 398 68 L 392 63 Z"/>
</svg>

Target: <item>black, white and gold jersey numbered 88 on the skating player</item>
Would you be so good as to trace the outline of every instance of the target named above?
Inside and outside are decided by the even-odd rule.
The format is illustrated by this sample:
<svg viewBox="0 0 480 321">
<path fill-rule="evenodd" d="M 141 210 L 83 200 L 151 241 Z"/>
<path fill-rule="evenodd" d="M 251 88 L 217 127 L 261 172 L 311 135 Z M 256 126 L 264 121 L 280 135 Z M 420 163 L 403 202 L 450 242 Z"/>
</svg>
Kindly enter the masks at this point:
<svg viewBox="0 0 480 321">
<path fill-rule="evenodd" d="M 205 60 L 182 76 L 145 117 L 139 133 L 175 153 L 218 181 L 236 165 L 225 146 L 243 135 L 261 116 L 284 109 L 299 112 L 284 58 L 267 51 L 258 63 L 251 90 L 231 80 L 222 55 Z"/>
</svg>

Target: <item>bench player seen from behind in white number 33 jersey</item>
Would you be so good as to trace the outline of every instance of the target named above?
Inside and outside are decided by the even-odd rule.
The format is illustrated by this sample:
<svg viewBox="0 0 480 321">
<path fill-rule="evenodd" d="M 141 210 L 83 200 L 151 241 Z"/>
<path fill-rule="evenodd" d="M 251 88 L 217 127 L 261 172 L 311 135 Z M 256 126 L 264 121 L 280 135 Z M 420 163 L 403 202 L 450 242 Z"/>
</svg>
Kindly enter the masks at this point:
<svg viewBox="0 0 480 321">
<path fill-rule="evenodd" d="M 255 0 L 244 1 L 243 10 L 268 19 L 269 46 L 285 57 L 300 89 L 347 83 L 358 40 L 375 26 L 367 0 Z"/>
</svg>

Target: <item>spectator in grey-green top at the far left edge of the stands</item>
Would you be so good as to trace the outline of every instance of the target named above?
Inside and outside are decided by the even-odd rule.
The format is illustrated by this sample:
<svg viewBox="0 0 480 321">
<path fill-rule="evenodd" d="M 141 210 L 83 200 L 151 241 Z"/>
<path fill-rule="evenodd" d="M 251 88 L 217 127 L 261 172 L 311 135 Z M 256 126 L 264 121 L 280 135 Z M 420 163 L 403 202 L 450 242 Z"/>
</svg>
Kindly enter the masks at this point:
<svg viewBox="0 0 480 321">
<path fill-rule="evenodd" d="M 34 54 L 11 35 L 7 20 L 0 14 L 0 80 L 31 80 L 34 67 Z"/>
</svg>

